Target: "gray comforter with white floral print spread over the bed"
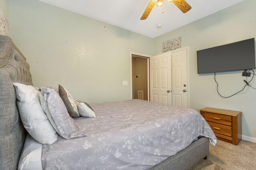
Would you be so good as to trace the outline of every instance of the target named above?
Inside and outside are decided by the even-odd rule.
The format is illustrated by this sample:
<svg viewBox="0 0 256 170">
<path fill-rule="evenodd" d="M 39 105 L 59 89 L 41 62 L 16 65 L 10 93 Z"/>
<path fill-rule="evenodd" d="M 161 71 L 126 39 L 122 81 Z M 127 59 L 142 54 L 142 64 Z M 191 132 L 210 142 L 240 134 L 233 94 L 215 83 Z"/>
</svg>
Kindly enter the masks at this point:
<svg viewBox="0 0 256 170">
<path fill-rule="evenodd" d="M 186 148 L 199 135 L 216 137 L 194 109 L 143 100 L 92 104 L 96 118 L 77 118 L 87 136 L 43 145 L 46 170 L 145 170 Z"/>
</svg>

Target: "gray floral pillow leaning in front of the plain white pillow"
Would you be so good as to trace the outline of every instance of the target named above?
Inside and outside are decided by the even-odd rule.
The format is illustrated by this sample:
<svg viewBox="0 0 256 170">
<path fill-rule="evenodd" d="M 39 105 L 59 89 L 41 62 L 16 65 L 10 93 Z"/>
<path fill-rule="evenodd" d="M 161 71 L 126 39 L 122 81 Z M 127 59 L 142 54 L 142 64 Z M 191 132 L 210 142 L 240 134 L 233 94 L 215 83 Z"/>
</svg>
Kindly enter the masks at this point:
<svg viewBox="0 0 256 170">
<path fill-rule="evenodd" d="M 53 126 L 55 128 L 57 127 L 59 135 L 65 139 L 84 136 L 85 134 L 83 133 L 79 134 L 78 128 L 76 127 L 74 120 L 69 116 L 59 94 L 47 87 L 40 88 L 40 90 L 40 93 L 44 96 L 44 98 L 40 98 L 42 100 L 40 101 L 41 105 L 43 107 L 45 106 L 45 102 L 47 103 L 47 107 L 44 107 L 43 109 L 45 109 L 46 115 L 50 115 L 54 121 L 55 125 Z"/>
</svg>

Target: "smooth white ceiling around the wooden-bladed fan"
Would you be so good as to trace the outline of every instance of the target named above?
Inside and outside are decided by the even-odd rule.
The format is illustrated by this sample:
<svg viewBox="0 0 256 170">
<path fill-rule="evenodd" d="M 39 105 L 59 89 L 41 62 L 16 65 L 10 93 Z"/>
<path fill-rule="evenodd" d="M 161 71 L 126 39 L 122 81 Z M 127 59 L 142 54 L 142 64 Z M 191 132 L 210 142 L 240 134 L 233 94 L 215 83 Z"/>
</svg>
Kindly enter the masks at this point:
<svg viewBox="0 0 256 170">
<path fill-rule="evenodd" d="M 154 38 L 243 0 L 186 0 L 192 7 L 186 14 L 164 0 L 164 13 L 154 6 L 146 20 L 140 18 L 150 0 L 40 1 Z M 156 27 L 158 23 L 162 23 L 162 28 Z"/>
</svg>

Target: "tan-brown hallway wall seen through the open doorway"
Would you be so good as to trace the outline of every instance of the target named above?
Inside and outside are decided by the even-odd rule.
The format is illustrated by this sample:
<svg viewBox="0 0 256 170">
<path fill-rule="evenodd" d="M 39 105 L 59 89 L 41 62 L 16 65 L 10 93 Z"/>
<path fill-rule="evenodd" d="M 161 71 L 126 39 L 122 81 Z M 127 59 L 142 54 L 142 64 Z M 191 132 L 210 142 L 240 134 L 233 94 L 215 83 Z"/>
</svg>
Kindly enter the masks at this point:
<svg viewBox="0 0 256 170">
<path fill-rule="evenodd" d="M 132 58 L 132 84 L 133 99 L 138 99 L 138 90 L 142 90 L 143 100 L 148 100 L 148 59 Z"/>
</svg>

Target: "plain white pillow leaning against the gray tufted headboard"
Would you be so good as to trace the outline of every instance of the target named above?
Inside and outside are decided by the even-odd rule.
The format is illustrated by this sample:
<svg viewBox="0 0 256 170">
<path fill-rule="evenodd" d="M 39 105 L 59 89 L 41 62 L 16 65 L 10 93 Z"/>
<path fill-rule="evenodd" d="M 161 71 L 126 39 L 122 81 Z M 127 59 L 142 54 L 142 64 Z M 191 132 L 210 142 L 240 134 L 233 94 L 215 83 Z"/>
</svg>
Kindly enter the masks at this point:
<svg viewBox="0 0 256 170">
<path fill-rule="evenodd" d="M 44 113 L 38 98 L 38 91 L 33 86 L 14 83 L 20 118 L 28 133 L 42 144 L 51 144 L 58 134 Z"/>
</svg>

